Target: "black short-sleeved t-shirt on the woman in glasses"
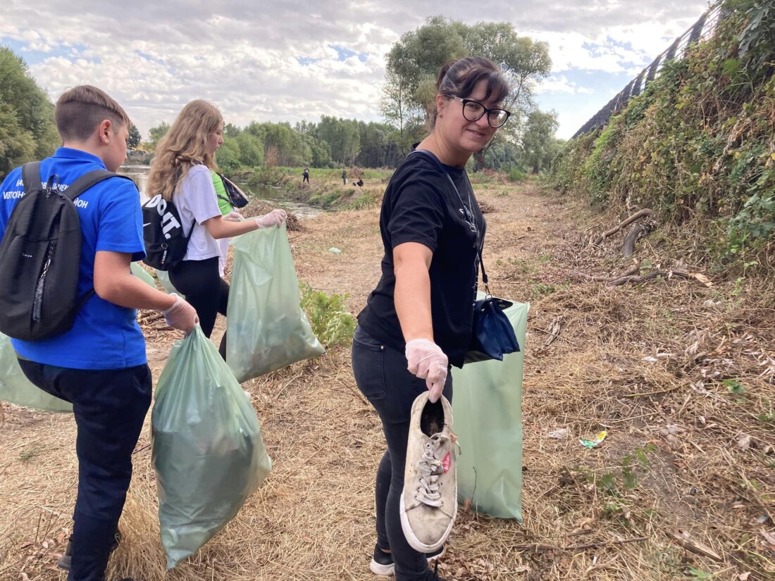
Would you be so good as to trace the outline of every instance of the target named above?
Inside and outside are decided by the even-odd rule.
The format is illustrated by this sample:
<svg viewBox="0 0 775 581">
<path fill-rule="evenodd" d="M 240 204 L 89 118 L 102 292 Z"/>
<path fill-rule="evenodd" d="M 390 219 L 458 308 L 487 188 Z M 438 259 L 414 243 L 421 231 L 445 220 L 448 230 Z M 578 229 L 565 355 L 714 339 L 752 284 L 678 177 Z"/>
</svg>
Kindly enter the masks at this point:
<svg viewBox="0 0 775 581">
<path fill-rule="evenodd" d="M 393 249 L 404 242 L 419 242 L 433 253 L 429 269 L 433 338 L 449 363 L 462 367 L 474 317 L 477 244 L 484 242 L 486 223 L 465 170 L 444 168 L 460 197 L 436 163 L 422 153 L 409 155 L 391 177 L 380 215 L 385 249 L 382 278 L 358 315 L 358 324 L 375 339 L 403 352 L 404 335 L 393 299 Z M 466 219 L 466 210 L 473 220 Z"/>
</svg>

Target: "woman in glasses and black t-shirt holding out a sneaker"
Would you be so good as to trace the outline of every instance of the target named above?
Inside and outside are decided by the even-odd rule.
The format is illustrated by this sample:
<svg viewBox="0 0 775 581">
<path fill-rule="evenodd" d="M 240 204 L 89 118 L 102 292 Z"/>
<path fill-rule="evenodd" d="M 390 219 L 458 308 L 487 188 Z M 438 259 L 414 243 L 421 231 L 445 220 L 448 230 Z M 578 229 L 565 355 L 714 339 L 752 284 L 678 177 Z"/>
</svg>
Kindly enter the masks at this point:
<svg viewBox="0 0 775 581">
<path fill-rule="evenodd" d="M 401 495 L 412 404 L 452 399 L 449 365 L 463 366 L 477 291 L 485 222 L 465 166 L 510 115 L 508 83 L 481 57 L 447 63 L 436 82 L 431 132 L 393 174 L 380 229 L 382 277 L 358 316 L 353 373 L 376 408 L 387 440 L 377 469 L 377 544 L 370 569 L 398 581 L 435 579 L 431 554 L 408 544 Z M 454 514 L 451 514 L 451 528 Z M 447 531 L 448 533 L 448 531 Z"/>
</svg>

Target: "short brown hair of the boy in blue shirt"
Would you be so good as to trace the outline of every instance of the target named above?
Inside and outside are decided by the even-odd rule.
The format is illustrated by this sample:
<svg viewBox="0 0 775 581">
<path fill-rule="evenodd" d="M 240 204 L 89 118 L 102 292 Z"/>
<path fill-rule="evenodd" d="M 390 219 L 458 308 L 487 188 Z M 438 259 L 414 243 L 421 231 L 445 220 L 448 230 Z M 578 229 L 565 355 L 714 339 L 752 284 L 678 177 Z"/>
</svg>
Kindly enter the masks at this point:
<svg viewBox="0 0 775 581">
<path fill-rule="evenodd" d="M 108 119 L 129 129 L 129 115 L 105 91 L 82 84 L 64 91 L 53 110 L 57 131 L 64 141 L 85 141 L 97 125 Z"/>
</svg>

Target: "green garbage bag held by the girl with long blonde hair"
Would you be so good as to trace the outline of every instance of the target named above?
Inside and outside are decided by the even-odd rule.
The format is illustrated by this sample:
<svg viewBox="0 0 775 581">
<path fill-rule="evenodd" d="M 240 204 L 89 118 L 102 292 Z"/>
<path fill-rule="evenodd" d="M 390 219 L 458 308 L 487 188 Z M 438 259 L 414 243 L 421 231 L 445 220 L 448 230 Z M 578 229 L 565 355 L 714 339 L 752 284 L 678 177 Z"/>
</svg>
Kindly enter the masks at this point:
<svg viewBox="0 0 775 581">
<path fill-rule="evenodd" d="M 285 224 L 237 236 L 232 246 L 226 362 L 237 380 L 322 355 L 325 349 L 299 304 Z"/>
</svg>

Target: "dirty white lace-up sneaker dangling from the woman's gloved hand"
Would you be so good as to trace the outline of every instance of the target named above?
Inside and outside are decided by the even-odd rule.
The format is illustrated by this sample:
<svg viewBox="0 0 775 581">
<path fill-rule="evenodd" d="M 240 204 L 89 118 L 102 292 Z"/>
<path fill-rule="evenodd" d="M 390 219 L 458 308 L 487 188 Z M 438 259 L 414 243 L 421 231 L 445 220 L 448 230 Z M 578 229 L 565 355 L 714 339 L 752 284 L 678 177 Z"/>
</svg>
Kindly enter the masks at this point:
<svg viewBox="0 0 775 581">
<path fill-rule="evenodd" d="M 401 528 L 409 545 L 425 553 L 443 545 L 457 514 L 452 406 L 444 396 L 435 404 L 428 397 L 426 391 L 412 405 L 401 494 Z"/>
</svg>

